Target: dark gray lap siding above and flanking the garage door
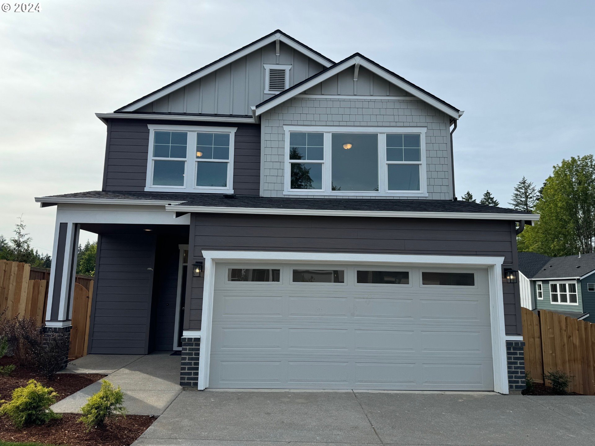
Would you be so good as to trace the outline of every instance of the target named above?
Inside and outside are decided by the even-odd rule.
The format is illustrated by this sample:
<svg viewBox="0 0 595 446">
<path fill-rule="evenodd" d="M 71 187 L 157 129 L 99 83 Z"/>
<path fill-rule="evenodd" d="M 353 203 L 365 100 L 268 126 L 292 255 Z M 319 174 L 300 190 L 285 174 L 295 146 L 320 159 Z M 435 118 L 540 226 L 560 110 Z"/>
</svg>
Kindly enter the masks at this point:
<svg viewBox="0 0 595 446">
<path fill-rule="evenodd" d="M 202 250 L 503 256 L 518 269 L 509 221 L 193 213 L 189 262 Z M 190 278 L 184 329 L 201 329 L 204 278 Z M 518 284 L 503 283 L 506 333 L 521 334 Z"/>
</svg>

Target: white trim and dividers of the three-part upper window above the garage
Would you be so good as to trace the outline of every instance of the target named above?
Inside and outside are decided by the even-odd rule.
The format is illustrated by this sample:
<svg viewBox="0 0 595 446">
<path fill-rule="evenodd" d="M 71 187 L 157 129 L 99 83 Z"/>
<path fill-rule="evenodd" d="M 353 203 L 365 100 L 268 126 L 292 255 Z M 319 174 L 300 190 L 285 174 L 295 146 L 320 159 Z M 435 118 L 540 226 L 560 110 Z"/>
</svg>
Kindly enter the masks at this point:
<svg viewBox="0 0 595 446">
<path fill-rule="evenodd" d="M 318 125 L 284 125 L 285 131 L 285 158 L 284 158 L 284 195 L 301 196 L 366 196 L 366 197 L 427 197 L 427 164 L 425 156 L 425 133 L 427 127 L 328 127 Z M 302 131 L 312 133 L 324 133 L 324 161 L 322 161 L 322 189 L 290 189 L 291 174 L 289 162 L 289 133 L 290 131 Z M 331 190 L 331 172 L 333 160 L 331 159 L 331 134 L 333 133 L 375 133 L 378 134 L 378 186 L 379 191 L 333 191 Z M 387 133 L 417 133 L 421 135 L 421 162 L 394 162 L 386 161 L 386 134 Z M 321 161 L 303 160 L 305 163 L 320 164 Z M 388 164 L 417 164 L 419 165 L 419 191 L 395 191 L 388 190 Z"/>
</svg>

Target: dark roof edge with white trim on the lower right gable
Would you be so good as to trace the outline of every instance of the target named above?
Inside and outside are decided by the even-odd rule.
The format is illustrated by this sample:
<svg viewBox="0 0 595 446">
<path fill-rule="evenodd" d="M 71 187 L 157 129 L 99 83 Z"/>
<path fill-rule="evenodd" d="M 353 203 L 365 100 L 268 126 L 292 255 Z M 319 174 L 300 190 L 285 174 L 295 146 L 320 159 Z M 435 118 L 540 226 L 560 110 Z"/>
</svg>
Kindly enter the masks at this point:
<svg viewBox="0 0 595 446">
<path fill-rule="evenodd" d="M 395 84 L 397 87 L 400 87 L 406 92 L 411 93 L 417 98 L 429 103 L 430 105 L 436 107 L 440 111 L 443 111 L 444 113 L 450 115 L 455 119 L 459 119 L 463 114 L 461 110 L 459 110 L 453 105 L 450 105 L 445 100 L 440 99 L 437 96 L 434 96 L 430 92 L 427 92 L 421 87 L 418 87 L 414 83 L 406 80 L 398 74 L 393 73 L 393 71 L 390 71 L 387 68 L 382 67 L 381 65 L 377 64 L 371 59 L 368 59 L 366 56 L 360 53 L 355 53 L 347 57 L 346 59 L 343 59 L 342 61 L 337 62 L 336 64 L 326 68 L 325 70 L 320 71 L 320 73 L 314 74 L 314 76 L 311 76 L 301 81 L 300 83 L 297 83 L 292 87 L 289 87 L 287 90 L 283 90 L 283 92 L 278 93 L 272 98 L 262 101 L 254 108 L 254 114 L 258 116 L 264 113 L 265 111 L 274 108 L 280 103 L 283 103 L 286 100 L 293 98 L 294 96 L 299 95 L 300 93 L 303 93 L 308 89 L 311 89 L 315 85 L 320 84 L 322 81 L 354 65 L 361 65 L 362 67 L 367 68 L 368 70 L 372 71 L 372 73 L 377 74 L 380 77 L 383 77 L 390 83 Z M 378 96 L 378 99 L 382 99 L 382 96 Z"/>
</svg>

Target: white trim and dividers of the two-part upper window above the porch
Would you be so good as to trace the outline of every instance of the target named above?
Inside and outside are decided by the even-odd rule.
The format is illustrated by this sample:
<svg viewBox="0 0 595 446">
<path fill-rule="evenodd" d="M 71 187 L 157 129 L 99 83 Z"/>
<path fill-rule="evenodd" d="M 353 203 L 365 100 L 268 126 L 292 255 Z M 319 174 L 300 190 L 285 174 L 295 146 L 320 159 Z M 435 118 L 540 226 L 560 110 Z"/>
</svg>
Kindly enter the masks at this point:
<svg viewBox="0 0 595 446">
<path fill-rule="evenodd" d="M 148 124 L 149 128 L 149 150 L 147 153 L 147 177 L 145 191 L 154 192 L 195 192 L 195 193 L 233 193 L 233 158 L 234 158 L 234 139 L 237 127 L 211 127 L 206 125 L 170 125 L 170 124 Z M 186 143 L 186 158 L 154 158 L 153 140 L 155 130 L 158 131 L 186 131 L 188 139 Z M 229 161 L 227 167 L 227 187 L 201 187 L 195 186 L 196 181 L 196 133 L 228 133 L 229 134 Z M 184 186 L 152 186 L 153 181 L 153 161 L 154 159 L 171 159 L 173 161 L 185 161 Z M 225 160 L 208 160 L 226 162 Z"/>
</svg>

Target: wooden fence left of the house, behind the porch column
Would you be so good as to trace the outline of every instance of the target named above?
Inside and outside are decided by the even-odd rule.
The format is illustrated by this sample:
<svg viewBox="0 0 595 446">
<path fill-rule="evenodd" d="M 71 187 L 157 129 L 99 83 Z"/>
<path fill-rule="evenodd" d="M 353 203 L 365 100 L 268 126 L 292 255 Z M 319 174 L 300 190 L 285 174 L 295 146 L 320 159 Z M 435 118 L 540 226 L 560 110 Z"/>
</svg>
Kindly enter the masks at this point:
<svg viewBox="0 0 595 446">
<path fill-rule="evenodd" d="M 0 260 L 0 311 L 7 308 L 5 318 L 14 318 L 17 315 L 19 318 L 34 318 L 41 325 L 45 322 L 48 284 L 49 269 Z M 77 274 L 68 357 L 76 358 L 87 354 L 92 296 L 93 278 Z"/>
</svg>

